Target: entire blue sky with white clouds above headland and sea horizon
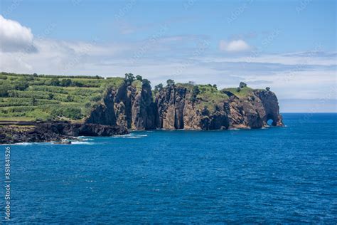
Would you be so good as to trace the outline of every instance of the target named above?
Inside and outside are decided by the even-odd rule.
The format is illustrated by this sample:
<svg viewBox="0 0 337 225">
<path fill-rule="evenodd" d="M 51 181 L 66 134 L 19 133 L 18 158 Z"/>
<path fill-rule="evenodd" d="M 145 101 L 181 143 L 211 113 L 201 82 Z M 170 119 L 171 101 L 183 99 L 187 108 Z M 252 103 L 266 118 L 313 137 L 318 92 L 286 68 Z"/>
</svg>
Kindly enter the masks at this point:
<svg viewBox="0 0 337 225">
<path fill-rule="evenodd" d="M 270 87 L 336 112 L 336 1 L 1 0 L 0 70 Z"/>
</svg>

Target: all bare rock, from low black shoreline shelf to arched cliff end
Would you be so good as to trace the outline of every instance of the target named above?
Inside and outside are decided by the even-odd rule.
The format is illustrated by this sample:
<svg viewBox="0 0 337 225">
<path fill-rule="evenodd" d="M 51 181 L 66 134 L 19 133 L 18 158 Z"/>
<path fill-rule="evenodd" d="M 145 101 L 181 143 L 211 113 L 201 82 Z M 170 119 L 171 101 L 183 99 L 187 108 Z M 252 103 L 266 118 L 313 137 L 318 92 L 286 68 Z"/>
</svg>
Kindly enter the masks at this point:
<svg viewBox="0 0 337 225">
<path fill-rule="evenodd" d="M 0 143 L 123 135 L 128 130 L 249 129 L 265 127 L 269 120 L 273 126 L 283 126 L 277 97 L 269 90 L 243 87 L 220 91 L 211 85 L 169 85 L 154 97 L 149 82 L 141 85 L 137 80 L 132 85 L 109 88 L 85 122 L 3 126 Z"/>
</svg>

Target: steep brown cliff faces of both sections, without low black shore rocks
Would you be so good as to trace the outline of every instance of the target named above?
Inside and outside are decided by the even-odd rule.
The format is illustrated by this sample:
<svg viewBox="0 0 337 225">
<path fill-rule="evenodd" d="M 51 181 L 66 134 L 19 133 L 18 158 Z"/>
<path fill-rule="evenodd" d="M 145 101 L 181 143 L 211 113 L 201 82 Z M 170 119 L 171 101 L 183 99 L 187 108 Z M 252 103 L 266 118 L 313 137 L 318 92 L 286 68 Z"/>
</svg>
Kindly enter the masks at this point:
<svg viewBox="0 0 337 225">
<path fill-rule="evenodd" d="M 109 90 L 86 122 L 131 130 L 260 128 L 268 120 L 273 126 L 283 125 L 277 97 L 271 91 L 254 90 L 243 96 L 223 91 L 223 95 L 226 98 L 217 101 L 192 98 L 191 89 L 169 85 L 154 98 L 148 83 L 141 87 L 124 84 Z"/>
</svg>

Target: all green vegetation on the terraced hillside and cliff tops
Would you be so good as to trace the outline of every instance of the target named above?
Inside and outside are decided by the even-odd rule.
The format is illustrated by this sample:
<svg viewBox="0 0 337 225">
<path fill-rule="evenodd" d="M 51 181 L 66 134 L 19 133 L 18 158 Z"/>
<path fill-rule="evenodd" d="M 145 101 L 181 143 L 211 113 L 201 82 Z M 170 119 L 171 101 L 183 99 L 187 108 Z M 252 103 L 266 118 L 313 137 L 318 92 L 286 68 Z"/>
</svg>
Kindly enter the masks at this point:
<svg viewBox="0 0 337 225">
<path fill-rule="evenodd" d="M 126 74 L 129 83 L 138 91 L 148 80 L 141 76 Z M 174 81 L 171 80 L 173 83 Z M 124 78 L 102 78 L 100 76 L 63 76 L 0 73 L 0 121 L 1 120 L 77 120 L 90 114 L 109 88 L 119 88 Z M 240 84 L 241 85 L 241 84 Z M 254 89 L 225 88 L 216 85 L 177 83 L 187 88 L 191 100 L 198 100 L 198 108 L 216 110 L 217 105 L 228 100 L 224 91 L 230 91 L 242 98 L 252 94 Z"/>
</svg>

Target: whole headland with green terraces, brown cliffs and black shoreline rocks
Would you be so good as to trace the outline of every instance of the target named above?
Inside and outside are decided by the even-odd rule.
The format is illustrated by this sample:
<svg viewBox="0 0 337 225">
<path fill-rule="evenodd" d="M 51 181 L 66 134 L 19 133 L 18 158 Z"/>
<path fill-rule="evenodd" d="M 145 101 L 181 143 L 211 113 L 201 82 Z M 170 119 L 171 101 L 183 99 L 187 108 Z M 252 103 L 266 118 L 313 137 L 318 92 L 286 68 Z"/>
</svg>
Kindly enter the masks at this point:
<svg viewBox="0 0 337 225">
<path fill-rule="evenodd" d="M 149 80 L 1 73 L 1 143 L 50 142 L 130 130 L 227 130 L 283 126 L 277 96 L 245 83 L 175 83 Z"/>
</svg>

